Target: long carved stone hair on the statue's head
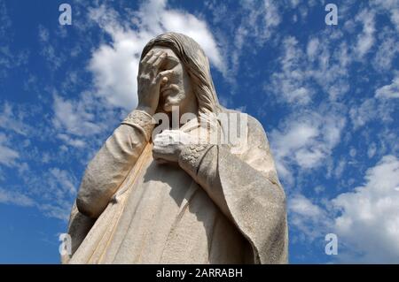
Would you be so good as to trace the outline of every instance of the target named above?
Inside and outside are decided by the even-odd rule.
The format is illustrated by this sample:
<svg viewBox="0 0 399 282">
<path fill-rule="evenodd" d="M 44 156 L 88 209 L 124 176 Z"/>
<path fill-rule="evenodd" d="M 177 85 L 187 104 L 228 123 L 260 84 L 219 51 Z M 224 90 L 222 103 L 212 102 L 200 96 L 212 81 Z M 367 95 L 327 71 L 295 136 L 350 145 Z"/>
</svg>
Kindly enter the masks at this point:
<svg viewBox="0 0 399 282">
<path fill-rule="evenodd" d="M 143 59 L 154 46 L 168 47 L 180 58 L 192 79 L 192 89 L 198 100 L 199 113 L 217 114 L 222 111 L 210 74 L 207 56 L 199 43 L 184 34 L 160 34 L 145 45 L 141 58 Z"/>
</svg>

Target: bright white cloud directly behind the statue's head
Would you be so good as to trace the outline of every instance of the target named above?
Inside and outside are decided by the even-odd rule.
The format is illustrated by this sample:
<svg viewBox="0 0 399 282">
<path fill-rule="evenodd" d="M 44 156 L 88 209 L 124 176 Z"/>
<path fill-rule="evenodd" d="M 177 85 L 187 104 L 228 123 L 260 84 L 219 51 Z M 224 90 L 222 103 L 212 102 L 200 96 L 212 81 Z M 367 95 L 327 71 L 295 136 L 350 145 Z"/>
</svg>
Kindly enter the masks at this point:
<svg viewBox="0 0 399 282">
<path fill-rule="evenodd" d="M 191 36 L 199 42 L 210 62 L 223 72 L 223 59 L 213 34 L 205 21 L 194 15 L 167 8 L 167 1 L 153 0 L 142 4 L 134 14 L 134 27 L 119 21 L 119 15 L 105 5 L 90 10 L 90 18 L 98 22 L 111 44 L 102 44 L 90 59 L 98 95 L 108 103 L 132 110 L 137 105 L 137 72 L 141 51 L 146 42 L 158 34 L 174 31 Z"/>
</svg>

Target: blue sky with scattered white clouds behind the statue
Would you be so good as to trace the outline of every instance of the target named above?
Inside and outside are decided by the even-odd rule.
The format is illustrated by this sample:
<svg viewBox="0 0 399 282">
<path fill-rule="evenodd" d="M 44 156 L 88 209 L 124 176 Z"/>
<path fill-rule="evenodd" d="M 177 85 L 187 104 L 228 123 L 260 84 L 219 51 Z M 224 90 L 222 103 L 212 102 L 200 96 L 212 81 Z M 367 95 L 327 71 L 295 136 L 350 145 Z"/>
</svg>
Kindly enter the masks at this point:
<svg viewBox="0 0 399 282">
<path fill-rule="evenodd" d="M 399 263 L 399 1 L 331 1 L 336 26 L 327 3 L 0 0 L 0 263 L 59 263 L 82 173 L 165 31 L 200 42 L 223 105 L 268 133 L 291 263 Z"/>
</svg>

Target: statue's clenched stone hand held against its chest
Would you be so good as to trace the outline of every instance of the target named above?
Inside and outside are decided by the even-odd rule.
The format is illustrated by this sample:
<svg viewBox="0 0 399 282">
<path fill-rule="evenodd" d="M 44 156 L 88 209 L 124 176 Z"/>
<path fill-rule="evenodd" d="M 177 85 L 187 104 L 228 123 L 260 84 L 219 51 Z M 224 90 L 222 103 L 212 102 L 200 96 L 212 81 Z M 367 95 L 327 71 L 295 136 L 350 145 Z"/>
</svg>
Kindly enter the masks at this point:
<svg viewBox="0 0 399 282">
<path fill-rule="evenodd" d="M 160 164 L 177 163 L 184 146 L 190 143 L 190 134 L 181 130 L 164 130 L 153 140 L 153 159 Z"/>
</svg>

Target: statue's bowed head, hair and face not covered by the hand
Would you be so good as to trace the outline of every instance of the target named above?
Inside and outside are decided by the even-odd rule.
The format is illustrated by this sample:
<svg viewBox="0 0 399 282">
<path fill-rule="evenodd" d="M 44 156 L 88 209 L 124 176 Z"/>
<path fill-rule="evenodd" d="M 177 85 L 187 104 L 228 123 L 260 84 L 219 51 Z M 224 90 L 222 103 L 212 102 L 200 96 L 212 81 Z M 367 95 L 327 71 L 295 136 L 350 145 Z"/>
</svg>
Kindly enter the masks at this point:
<svg viewBox="0 0 399 282">
<path fill-rule="evenodd" d="M 187 99 L 197 99 L 199 113 L 221 111 L 209 62 L 200 44 L 184 34 L 167 33 L 148 42 L 141 59 L 150 50 L 167 52 L 168 57 L 160 71 L 174 71 L 168 83 L 161 88 L 160 103 L 164 111 L 181 106 Z"/>
</svg>

